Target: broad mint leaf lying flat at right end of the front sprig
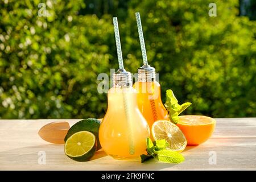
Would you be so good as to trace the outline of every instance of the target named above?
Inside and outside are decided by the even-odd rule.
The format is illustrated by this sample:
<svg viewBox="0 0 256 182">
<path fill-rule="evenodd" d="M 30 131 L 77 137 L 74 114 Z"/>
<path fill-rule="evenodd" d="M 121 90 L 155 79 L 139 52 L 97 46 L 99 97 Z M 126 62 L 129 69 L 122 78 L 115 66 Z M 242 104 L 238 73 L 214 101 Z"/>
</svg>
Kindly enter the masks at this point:
<svg viewBox="0 0 256 182">
<path fill-rule="evenodd" d="M 160 162 L 166 163 L 181 163 L 185 159 L 183 155 L 179 152 L 171 151 L 171 150 L 161 150 L 158 151 L 157 158 Z"/>
</svg>

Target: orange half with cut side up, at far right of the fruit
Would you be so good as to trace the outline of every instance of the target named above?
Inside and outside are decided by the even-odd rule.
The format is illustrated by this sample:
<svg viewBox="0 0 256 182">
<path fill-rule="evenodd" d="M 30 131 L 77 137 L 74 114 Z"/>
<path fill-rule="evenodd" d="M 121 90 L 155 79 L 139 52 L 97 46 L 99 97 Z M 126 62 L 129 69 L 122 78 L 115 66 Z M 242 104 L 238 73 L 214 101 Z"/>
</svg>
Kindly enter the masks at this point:
<svg viewBox="0 0 256 182">
<path fill-rule="evenodd" d="M 181 115 L 177 123 L 188 140 L 188 145 L 198 145 L 210 138 L 216 121 L 204 115 Z"/>
</svg>

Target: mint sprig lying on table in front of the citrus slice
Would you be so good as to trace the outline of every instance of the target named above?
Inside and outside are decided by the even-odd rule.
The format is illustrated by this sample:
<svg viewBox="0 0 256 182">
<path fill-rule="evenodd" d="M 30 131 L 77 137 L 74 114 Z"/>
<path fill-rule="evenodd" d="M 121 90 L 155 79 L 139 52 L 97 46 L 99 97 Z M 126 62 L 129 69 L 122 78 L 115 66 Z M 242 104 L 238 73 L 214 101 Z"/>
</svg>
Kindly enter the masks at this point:
<svg viewBox="0 0 256 182">
<path fill-rule="evenodd" d="M 156 140 L 154 143 L 150 138 L 146 138 L 147 155 L 141 155 L 141 163 L 150 159 L 158 159 L 160 162 L 166 163 L 181 163 L 184 161 L 184 157 L 179 153 L 171 150 L 167 150 L 168 143 L 165 139 Z"/>
</svg>

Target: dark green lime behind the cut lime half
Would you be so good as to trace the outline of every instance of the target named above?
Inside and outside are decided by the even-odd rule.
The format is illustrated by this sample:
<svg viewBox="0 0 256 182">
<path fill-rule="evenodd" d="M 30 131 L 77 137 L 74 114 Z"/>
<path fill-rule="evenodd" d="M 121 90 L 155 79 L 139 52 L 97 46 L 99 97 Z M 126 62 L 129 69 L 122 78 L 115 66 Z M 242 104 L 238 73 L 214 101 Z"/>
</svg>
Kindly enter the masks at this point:
<svg viewBox="0 0 256 182">
<path fill-rule="evenodd" d="M 74 133 L 77 133 L 79 131 L 90 131 L 93 133 L 97 139 L 97 150 L 101 149 L 100 140 L 98 139 L 98 129 L 100 128 L 101 122 L 98 119 L 94 118 L 88 118 L 88 119 L 82 119 L 81 121 L 77 122 L 75 125 L 73 125 L 69 130 L 65 137 L 65 142 L 71 135 Z"/>
</svg>

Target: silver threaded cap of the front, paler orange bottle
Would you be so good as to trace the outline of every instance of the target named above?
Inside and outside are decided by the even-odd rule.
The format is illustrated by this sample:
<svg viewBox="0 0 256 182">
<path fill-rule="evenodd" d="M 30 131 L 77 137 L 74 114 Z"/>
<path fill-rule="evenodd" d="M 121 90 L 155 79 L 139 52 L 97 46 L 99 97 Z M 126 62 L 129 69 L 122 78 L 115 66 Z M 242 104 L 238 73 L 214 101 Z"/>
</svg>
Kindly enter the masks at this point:
<svg viewBox="0 0 256 182">
<path fill-rule="evenodd" d="M 125 69 L 118 69 L 113 73 L 113 87 L 114 88 L 127 88 L 132 86 L 131 73 Z"/>
</svg>

